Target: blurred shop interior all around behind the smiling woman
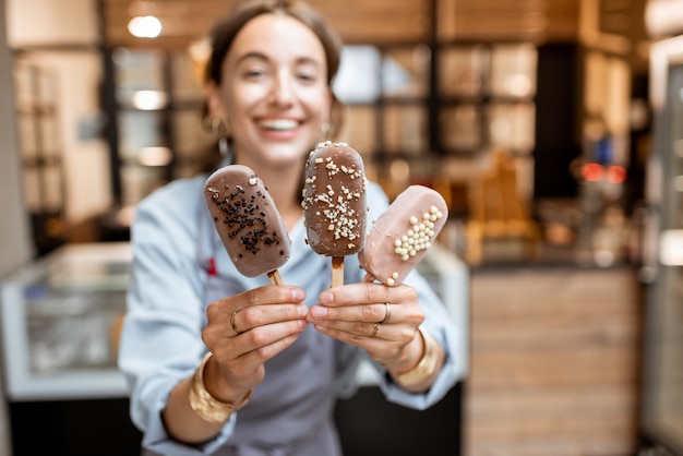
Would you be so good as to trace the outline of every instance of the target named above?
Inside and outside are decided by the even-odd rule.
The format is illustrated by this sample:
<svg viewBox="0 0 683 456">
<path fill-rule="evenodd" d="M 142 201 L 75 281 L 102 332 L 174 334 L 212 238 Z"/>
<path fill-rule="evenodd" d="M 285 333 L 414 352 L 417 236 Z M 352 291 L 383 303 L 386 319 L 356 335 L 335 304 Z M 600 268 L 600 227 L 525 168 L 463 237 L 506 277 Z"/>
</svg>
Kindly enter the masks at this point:
<svg viewBox="0 0 683 456">
<path fill-rule="evenodd" d="M 36 420 L 55 455 L 139 443 L 129 227 L 215 146 L 196 71 L 235 1 L 0 0 L 0 454 L 40 454 Z M 422 267 L 467 362 L 430 454 L 683 455 L 683 1 L 311 3 L 345 43 L 339 139 L 448 203 Z"/>
</svg>

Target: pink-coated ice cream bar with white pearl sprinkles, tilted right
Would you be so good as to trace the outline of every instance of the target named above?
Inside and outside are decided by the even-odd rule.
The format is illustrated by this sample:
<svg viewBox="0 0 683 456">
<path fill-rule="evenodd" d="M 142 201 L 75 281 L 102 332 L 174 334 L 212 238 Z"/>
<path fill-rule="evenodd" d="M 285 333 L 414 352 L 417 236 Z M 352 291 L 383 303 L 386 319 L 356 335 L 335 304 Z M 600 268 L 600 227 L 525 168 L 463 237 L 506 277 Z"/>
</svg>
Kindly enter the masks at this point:
<svg viewBox="0 0 683 456">
<path fill-rule="evenodd" d="M 372 224 L 358 254 L 366 281 L 400 285 L 422 260 L 448 218 L 448 206 L 439 192 L 410 185 Z"/>
</svg>

